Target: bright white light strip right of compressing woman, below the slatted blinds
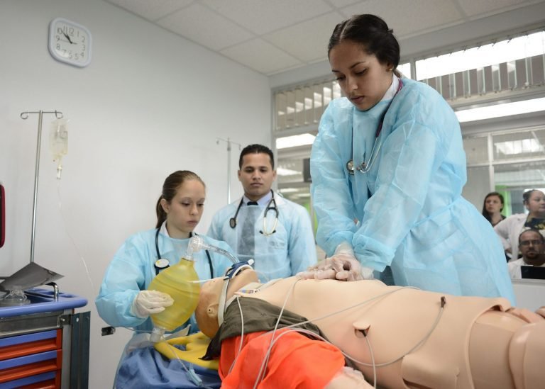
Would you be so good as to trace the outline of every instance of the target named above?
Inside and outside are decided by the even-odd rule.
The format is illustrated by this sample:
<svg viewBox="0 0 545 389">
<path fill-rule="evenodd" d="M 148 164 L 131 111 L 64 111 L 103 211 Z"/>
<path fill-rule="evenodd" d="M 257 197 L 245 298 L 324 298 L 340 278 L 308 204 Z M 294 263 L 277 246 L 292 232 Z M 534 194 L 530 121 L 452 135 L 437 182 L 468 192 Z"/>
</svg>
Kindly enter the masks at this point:
<svg viewBox="0 0 545 389">
<path fill-rule="evenodd" d="M 502 118 L 504 116 L 519 115 L 545 111 L 545 97 L 533 98 L 532 100 L 516 101 L 514 103 L 496 104 L 480 108 L 470 108 L 456 111 L 460 123 L 473 120 L 484 120 L 490 118 Z"/>
</svg>

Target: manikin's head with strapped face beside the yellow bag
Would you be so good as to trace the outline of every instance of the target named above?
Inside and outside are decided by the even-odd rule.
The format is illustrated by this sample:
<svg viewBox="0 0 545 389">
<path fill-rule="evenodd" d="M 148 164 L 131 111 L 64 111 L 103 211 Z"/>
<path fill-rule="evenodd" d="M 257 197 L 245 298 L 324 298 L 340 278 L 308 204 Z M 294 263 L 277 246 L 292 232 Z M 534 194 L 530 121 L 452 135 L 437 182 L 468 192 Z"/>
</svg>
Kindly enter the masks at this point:
<svg viewBox="0 0 545 389">
<path fill-rule="evenodd" d="M 213 278 L 211 281 L 201 286 L 199 303 L 195 310 L 197 325 L 203 334 L 207 337 L 214 337 L 219 329 L 218 312 L 220 305 L 221 292 L 224 288 L 224 277 Z M 233 297 L 234 293 L 248 283 L 258 282 L 258 276 L 252 269 L 243 269 L 229 280 L 227 287 L 226 300 Z"/>
</svg>

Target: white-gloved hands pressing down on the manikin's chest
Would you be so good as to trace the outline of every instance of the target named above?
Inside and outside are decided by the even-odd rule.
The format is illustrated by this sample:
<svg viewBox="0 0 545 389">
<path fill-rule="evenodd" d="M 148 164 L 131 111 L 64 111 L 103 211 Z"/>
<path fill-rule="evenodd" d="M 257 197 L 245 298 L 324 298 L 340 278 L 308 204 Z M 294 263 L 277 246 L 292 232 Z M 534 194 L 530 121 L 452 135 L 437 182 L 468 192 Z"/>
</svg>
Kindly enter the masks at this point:
<svg viewBox="0 0 545 389">
<path fill-rule="evenodd" d="M 302 278 L 357 281 L 373 279 L 373 269 L 361 266 L 348 242 L 338 245 L 335 254 L 297 274 Z"/>
</svg>

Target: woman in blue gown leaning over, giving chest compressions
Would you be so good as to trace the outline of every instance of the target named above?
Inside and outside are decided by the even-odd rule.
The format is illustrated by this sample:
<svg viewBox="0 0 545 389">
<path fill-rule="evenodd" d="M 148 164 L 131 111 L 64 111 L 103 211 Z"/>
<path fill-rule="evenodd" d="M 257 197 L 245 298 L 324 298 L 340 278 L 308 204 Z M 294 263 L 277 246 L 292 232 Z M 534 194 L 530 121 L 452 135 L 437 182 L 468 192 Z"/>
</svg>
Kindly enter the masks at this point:
<svg viewBox="0 0 545 389">
<path fill-rule="evenodd" d="M 329 258 L 302 276 L 353 281 L 391 266 L 395 285 L 514 303 L 501 244 L 461 196 L 452 108 L 400 78 L 399 43 L 378 16 L 339 23 L 328 50 L 346 96 L 329 103 L 311 154 L 316 241 Z"/>
</svg>

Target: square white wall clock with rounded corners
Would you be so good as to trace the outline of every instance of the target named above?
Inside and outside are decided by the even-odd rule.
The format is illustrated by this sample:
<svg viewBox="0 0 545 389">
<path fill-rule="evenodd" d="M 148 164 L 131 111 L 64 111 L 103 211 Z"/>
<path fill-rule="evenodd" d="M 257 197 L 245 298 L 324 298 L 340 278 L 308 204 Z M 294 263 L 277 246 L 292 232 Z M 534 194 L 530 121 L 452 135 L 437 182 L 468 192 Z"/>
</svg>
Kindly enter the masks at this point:
<svg viewBox="0 0 545 389">
<path fill-rule="evenodd" d="M 57 61 L 87 66 L 91 62 L 91 33 L 84 26 L 56 18 L 49 26 L 49 52 Z"/>
</svg>

